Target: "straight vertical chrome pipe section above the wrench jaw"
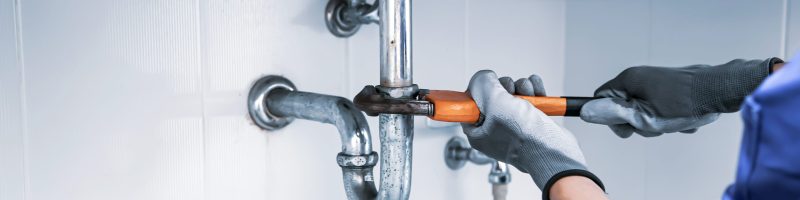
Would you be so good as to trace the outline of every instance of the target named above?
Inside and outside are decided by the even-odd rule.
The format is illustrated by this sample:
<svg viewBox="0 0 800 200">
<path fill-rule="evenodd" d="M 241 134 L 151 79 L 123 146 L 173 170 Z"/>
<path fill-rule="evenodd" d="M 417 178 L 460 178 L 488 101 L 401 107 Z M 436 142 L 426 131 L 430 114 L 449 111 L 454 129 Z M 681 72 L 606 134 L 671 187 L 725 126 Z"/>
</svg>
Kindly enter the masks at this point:
<svg viewBox="0 0 800 200">
<path fill-rule="evenodd" d="M 381 86 L 413 84 L 411 66 L 411 0 L 380 0 Z"/>
</svg>

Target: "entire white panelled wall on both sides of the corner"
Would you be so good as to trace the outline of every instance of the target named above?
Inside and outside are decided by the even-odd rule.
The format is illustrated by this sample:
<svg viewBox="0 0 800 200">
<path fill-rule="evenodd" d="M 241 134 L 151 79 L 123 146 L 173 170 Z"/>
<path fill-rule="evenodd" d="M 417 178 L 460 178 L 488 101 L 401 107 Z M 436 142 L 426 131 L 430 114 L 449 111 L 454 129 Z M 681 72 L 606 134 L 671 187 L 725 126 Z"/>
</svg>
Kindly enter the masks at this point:
<svg viewBox="0 0 800 200">
<path fill-rule="evenodd" d="M 800 3 L 788 1 L 792 52 Z M 348 98 L 378 82 L 378 27 L 335 38 L 325 3 L 0 0 L 0 199 L 343 199 L 333 126 L 265 132 L 244 104 L 267 74 Z M 551 95 L 590 95 L 632 65 L 779 56 L 783 5 L 414 1 L 414 78 L 463 90 L 478 69 L 538 73 Z M 565 121 L 614 199 L 713 199 L 733 178 L 736 115 L 657 139 Z M 442 161 L 457 126 L 416 126 L 412 199 L 490 198 L 488 166 Z M 539 195 L 514 172 L 510 199 Z"/>
</svg>

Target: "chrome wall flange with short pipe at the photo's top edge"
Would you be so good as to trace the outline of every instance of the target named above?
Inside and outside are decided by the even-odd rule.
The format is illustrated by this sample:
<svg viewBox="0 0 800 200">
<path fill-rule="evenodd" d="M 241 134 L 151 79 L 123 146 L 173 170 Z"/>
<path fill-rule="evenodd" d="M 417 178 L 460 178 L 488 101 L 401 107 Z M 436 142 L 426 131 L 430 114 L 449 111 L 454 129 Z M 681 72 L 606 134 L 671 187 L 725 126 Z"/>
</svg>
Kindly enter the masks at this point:
<svg viewBox="0 0 800 200">
<path fill-rule="evenodd" d="M 365 0 L 329 0 L 325 6 L 325 25 L 336 37 L 350 37 L 363 24 L 378 23 L 378 1 L 372 5 Z"/>
</svg>

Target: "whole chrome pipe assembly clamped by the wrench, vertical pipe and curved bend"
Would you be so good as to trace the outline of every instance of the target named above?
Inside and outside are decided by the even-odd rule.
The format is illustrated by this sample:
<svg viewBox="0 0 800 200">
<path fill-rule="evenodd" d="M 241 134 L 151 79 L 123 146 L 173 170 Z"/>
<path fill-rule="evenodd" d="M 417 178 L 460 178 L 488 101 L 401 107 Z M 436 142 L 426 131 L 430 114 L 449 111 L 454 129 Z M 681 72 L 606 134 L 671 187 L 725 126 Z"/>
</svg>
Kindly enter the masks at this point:
<svg viewBox="0 0 800 200">
<path fill-rule="evenodd" d="M 337 2 L 329 2 L 328 7 L 331 9 L 326 10 L 326 22 L 336 25 L 334 28 L 343 28 L 341 23 L 334 23 L 336 20 L 333 20 L 333 16 L 337 16 L 336 5 L 344 1 L 331 1 Z M 353 2 L 361 5 L 358 2 L 363 1 L 353 0 L 347 5 L 356 5 Z M 380 85 L 375 88 L 389 100 L 414 99 L 419 88 L 413 83 L 411 70 L 411 0 L 378 0 L 377 3 L 381 63 Z M 344 27 L 341 30 L 347 32 L 351 29 Z M 337 35 L 339 30 L 332 30 L 339 37 L 350 36 L 355 31 L 357 29 L 352 29 L 352 33 Z M 376 193 L 372 168 L 378 158 L 372 152 L 366 120 L 352 102 L 341 97 L 297 92 L 291 83 L 291 87 L 286 86 L 286 83 L 275 84 L 281 81 L 276 81 L 279 79 L 274 78 L 275 76 L 268 77 L 272 79 L 259 80 L 250 93 L 250 115 L 257 125 L 274 130 L 286 126 L 292 118 L 334 124 L 342 135 L 342 152 L 337 156 L 337 162 L 342 167 L 347 197 L 408 199 L 411 192 L 411 150 L 414 139 L 412 115 L 379 115 L 381 185 L 380 191 Z M 288 83 L 288 80 L 285 82 Z"/>
</svg>

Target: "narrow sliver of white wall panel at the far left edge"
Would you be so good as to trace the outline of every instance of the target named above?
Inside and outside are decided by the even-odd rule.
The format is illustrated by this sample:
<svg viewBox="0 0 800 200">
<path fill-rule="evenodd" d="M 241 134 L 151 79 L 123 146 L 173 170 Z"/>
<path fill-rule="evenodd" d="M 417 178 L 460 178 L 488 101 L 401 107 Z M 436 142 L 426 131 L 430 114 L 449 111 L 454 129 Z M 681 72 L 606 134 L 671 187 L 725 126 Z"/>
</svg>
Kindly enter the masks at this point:
<svg viewBox="0 0 800 200">
<path fill-rule="evenodd" d="M 22 65 L 17 63 L 13 0 L 0 1 L 0 199 L 25 194 Z"/>
</svg>

